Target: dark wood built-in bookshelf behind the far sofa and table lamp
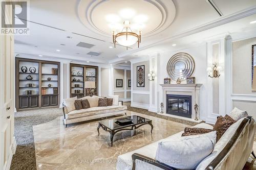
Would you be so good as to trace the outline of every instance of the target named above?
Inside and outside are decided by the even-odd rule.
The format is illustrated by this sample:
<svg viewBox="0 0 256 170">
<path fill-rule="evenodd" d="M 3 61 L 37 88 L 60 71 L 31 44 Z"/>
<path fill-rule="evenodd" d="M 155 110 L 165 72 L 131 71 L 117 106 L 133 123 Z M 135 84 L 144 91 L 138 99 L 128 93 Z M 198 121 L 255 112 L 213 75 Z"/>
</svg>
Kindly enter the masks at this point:
<svg viewBox="0 0 256 170">
<path fill-rule="evenodd" d="M 79 72 L 80 71 L 80 72 Z M 78 73 L 79 72 L 79 73 Z M 74 78 L 76 81 L 74 81 Z M 80 79 L 80 81 L 78 81 Z M 95 82 L 95 88 L 84 88 L 86 81 Z M 79 87 L 75 87 L 79 84 Z M 77 92 L 76 90 L 80 90 Z M 89 92 L 92 90 L 93 92 Z M 98 95 L 98 66 L 70 64 L 70 97 L 83 98 L 87 95 Z"/>
</svg>

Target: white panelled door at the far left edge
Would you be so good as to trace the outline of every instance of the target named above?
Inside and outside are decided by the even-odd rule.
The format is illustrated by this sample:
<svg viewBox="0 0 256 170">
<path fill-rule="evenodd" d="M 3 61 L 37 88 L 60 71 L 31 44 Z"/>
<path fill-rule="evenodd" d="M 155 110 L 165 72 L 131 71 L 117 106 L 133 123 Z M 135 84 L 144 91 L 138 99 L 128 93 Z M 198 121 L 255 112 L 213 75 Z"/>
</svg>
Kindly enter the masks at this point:
<svg viewBox="0 0 256 170">
<path fill-rule="evenodd" d="M 2 10 L 2 8 L 0 8 Z M 8 10 L 10 11 L 10 10 Z M 0 14 L 2 11 L 0 12 Z M 8 15 L 10 16 L 10 15 Z M 3 18 L 1 17 L 1 20 Z M 9 169 L 16 142 L 14 132 L 14 39 L 0 33 L 0 169 Z"/>
</svg>

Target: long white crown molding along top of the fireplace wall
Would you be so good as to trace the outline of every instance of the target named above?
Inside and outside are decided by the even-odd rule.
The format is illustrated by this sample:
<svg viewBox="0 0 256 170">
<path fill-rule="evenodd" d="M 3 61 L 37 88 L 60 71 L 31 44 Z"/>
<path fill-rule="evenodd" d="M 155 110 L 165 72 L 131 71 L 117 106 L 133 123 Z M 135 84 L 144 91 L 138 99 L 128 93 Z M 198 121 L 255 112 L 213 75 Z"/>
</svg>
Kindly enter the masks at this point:
<svg viewBox="0 0 256 170">
<path fill-rule="evenodd" d="M 165 43 L 167 41 L 172 41 L 172 40 L 175 40 L 175 39 L 178 39 L 178 38 L 183 38 L 183 37 L 186 37 L 186 36 L 189 36 L 189 35 L 193 35 L 193 34 L 196 34 L 196 33 L 199 33 L 199 32 L 202 32 L 202 31 L 205 31 L 205 30 L 208 30 L 208 29 L 211 29 L 211 28 L 215 28 L 215 27 L 221 26 L 221 25 L 224 25 L 225 23 L 229 23 L 231 21 L 238 20 L 238 19 L 250 16 L 250 15 L 253 15 L 253 14 L 256 14 L 256 5 L 252 6 L 250 8 L 238 11 L 236 13 L 227 15 L 227 16 L 223 16 L 220 19 L 217 19 L 217 20 L 208 22 L 208 23 L 206 23 L 204 25 L 201 25 L 201 26 L 195 27 L 193 29 L 187 30 L 187 31 L 185 31 L 185 32 L 183 32 L 181 34 L 177 34 L 177 35 L 174 35 L 174 36 L 163 38 L 163 39 L 161 39 L 159 41 L 156 41 L 155 43 L 152 43 L 150 45 L 145 45 L 145 46 L 142 46 L 142 47 L 140 47 L 138 49 L 118 54 L 117 56 L 119 58 L 122 58 L 122 57 L 125 57 L 127 55 L 131 55 L 133 53 L 137 53 L 137 52 L 140 52 L 142 50 L 146 50 L 146 49 L 154 47 L 156 45 Z"/>
</svg>

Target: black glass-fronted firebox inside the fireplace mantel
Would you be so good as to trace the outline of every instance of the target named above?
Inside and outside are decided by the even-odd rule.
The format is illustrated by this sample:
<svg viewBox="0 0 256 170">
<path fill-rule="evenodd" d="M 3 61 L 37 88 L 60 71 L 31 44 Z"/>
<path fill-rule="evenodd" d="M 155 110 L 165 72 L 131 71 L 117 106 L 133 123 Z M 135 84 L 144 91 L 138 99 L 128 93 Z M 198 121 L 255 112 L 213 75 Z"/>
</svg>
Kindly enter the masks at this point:
<svg viewBox="0 0 256 170">
<path fill-rule="evenodd" d="M 191 118 L 191 95 L 166 94 L 166 113 Z"/>
</svg>

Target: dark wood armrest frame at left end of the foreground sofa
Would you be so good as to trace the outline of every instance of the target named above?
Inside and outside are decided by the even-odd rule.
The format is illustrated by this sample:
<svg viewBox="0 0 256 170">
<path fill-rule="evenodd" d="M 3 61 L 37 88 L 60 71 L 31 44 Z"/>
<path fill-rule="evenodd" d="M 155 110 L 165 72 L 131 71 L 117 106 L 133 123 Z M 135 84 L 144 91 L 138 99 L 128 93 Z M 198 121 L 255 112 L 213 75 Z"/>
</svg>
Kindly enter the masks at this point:
<svg viewBox="0 0 256 170">
<path fill-rule="evenodd" d="M 132 159 L 133 159 L 133 168 L 132 168 L 132 170 L 135 170 L 135 168 L 136 168 L 136 159 L 140 160 L 142 162 L 148 163 L 148 164 L 152 164 L 152 165 L 157 166 L 157 167 L 159 167 L 161 169 L 164 169 L 164 170 L 178 170 L 175 167 L 166 165 L 166 164 L 161 163 L 161 162 L 159 162 L 155 159 L 152 159 L 152 158 L 149 158 L 149 157 L 146 157 L 144 155 L 137 154 L 137 153 L 134 153 L 132 155 Z"/>
</svg>

